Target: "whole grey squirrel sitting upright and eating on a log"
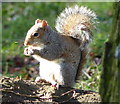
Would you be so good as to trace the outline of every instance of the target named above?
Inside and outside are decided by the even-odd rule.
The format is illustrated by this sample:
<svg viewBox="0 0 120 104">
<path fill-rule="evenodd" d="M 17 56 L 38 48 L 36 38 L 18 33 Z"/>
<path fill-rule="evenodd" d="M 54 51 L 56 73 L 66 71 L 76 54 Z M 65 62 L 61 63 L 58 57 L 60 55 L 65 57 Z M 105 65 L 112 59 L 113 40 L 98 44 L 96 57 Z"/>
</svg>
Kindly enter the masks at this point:
<svg viewBox="0 0 120 104">
<path fill-rule="evenodd" d="M 24 54 L 40 62 L 39 77 L 53 86 L 73 87 L 80 76 L 92 38 L 96 14 L 87 7 L 68 7 L 58 16 L 54 31 L 46 20 L 35 20 L 25 38 Z"/>
</svg>

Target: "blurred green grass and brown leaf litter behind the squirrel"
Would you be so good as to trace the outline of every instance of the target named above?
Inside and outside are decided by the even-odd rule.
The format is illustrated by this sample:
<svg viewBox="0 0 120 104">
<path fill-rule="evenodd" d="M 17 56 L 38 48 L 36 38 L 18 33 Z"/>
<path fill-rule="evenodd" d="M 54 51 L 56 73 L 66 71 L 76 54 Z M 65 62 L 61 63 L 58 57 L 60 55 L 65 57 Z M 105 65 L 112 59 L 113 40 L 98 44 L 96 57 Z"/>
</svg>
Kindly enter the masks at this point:
<svg viewBox="0 0 120 104">
<path fill-rule="evenodd" d="M 113 17 L 112 2 L 11 2 L 2 3 L 2 74 L 33 80 L 38 74 L 38 62 L 23 54 L 24 39 L 34 21 L 44 19 L 53 28 L 57 16 L 68 6 L 82 5 L 96 12 L 99 23 L 93 30 L 93 41 L 87 64 L 77 88 L 98 91 L 101 57 L 104 43 L 111 32 Z"/>
</svg>

